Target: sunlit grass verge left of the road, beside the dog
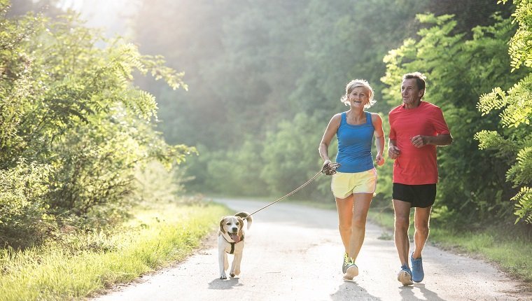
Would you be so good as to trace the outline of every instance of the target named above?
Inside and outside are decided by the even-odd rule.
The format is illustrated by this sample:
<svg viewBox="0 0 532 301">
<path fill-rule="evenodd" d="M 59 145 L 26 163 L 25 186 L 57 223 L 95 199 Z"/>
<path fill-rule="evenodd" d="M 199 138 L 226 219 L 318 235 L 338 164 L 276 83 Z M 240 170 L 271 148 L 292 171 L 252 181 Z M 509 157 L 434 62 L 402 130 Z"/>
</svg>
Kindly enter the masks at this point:
<svg viewBox="0 0 532 301">
<path fill-rule="evenodd" d="M 113 233 L 66 238 L 25 251 L 0 251 L 0 299 L 81 300 L 179 262 L 212 232 L 220 204 L 157 204 Z M 92 246 L 87 248 L 86 246 Z M 94 251 L 96 250 L 96 251 Z"/>
</svg>

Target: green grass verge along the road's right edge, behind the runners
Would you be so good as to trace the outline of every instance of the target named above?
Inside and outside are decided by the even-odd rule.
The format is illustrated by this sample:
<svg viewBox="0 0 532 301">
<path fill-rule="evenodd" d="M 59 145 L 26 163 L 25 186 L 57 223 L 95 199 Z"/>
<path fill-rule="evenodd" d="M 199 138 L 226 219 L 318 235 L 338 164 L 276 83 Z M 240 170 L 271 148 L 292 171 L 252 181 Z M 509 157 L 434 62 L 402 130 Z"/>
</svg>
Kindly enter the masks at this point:
<svg viewBox="0 0 532 301">
<path fill-rule="evenodd" d="M 370 210 L 370 221 L 390 230 L 393 239 L 393 213 Z M 413 223 L 413 218 L 410 218 Z M 414 235 L 414 225 L 409 237 Z M 465 253 L 474 258 L 492 262 L 511 276 L 522 279 L 532 289 L 532 241 L 528 235 L 507 228 L 491 226 L 482 230 L 460 231 L 448 228 L 430 228 L 428 243 L 454 253 Z"/>
</svg>

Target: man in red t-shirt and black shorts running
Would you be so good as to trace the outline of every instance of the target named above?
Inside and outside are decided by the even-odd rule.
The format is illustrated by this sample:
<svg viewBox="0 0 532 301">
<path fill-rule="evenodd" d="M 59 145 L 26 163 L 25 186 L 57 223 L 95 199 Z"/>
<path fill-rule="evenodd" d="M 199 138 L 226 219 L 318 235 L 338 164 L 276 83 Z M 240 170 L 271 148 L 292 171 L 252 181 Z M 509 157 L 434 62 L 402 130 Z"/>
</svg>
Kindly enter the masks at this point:
<svg viewBox="0 0 532 301">
<path fill-rule="evenodd" d="M 425 79 L 422 73 L 402 77 L 402 104 L 390 111 L 388 157 L 393 162 L 393 211 L 395 247 L 401 262 L 398 281 L 411 285 L 423 280 L 421 251 L 428 238 L 430 209 L 436 197 L 436 146 L 452 143 L 451 132 L 442 110 L 424 102 Z M 414 251 L 409 256 L 408 228 L 414 207 Z M 409 260 L 412 262 L 412 270 Z"/>
</svg>

